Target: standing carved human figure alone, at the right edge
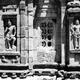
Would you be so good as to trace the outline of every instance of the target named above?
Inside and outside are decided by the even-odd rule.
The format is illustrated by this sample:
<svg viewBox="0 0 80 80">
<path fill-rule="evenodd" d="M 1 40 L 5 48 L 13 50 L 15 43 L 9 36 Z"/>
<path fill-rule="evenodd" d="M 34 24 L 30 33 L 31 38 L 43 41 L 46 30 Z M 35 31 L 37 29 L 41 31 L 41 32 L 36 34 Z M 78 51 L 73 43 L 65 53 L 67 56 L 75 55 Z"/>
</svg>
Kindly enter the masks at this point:
<svg viewBox="0 0 80 80">
<path fill-rule="evenodd" d="M 77 19 L 75 21 L 75 25 L 72 25 L 71 27 L 71 38 L 73 40 L 73 46 L 74 49 L 79 49 L 80 46 L 80 23 L 79 20 Z"/>
</svg>

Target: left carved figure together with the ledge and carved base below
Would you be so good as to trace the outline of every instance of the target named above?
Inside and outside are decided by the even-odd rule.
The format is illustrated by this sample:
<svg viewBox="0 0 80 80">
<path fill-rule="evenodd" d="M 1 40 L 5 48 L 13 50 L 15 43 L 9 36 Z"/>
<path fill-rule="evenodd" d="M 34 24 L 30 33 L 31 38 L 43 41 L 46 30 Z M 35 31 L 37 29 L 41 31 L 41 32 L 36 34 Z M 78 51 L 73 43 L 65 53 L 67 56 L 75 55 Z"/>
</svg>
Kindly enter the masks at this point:
<svg viewBox="0 0 80 80">
<path fill-rule="evenodd" d="M 0 54 L 0 63 L 1 64 L 16 64 L 20 63 L 19 52 L 16 51 L 16 26 L 12 24 L 11 20 L 8 19 L 8 22 L 4 24 L 4 51 Z"/>
</svg>

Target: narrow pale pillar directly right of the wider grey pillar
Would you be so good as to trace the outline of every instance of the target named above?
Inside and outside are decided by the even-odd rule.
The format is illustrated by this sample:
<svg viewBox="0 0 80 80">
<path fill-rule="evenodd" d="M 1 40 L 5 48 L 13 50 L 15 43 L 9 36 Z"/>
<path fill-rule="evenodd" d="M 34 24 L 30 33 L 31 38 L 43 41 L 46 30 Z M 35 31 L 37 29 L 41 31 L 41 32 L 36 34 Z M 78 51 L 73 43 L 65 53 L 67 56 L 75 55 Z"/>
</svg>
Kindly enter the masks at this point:
<svg viewBox="0 0 80 80">
<path fill-rule="evenodd" d="M 34 53 L 34 45 L 33 45 L 33 3 L 30 2 L 28 4 L 28 29 L 29 29 L 29 68 L 32 68 L 33 56 Z"/>
</svg>

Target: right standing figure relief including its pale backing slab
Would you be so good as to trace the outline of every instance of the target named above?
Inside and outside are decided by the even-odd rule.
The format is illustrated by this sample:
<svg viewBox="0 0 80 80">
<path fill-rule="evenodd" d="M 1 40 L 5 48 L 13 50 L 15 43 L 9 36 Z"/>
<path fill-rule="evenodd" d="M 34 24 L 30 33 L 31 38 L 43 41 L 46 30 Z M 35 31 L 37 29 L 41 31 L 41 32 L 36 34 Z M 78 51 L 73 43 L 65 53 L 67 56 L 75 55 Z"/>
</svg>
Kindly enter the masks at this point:
<svg viewBox="0 0 80 80">
<path fill-rule="evenodd" d="M 70 40 L 71 50 L 80 49 L 80 21 L 78 19 L 75 20 L 75 24 L 71 24 Z"/>
</svg>

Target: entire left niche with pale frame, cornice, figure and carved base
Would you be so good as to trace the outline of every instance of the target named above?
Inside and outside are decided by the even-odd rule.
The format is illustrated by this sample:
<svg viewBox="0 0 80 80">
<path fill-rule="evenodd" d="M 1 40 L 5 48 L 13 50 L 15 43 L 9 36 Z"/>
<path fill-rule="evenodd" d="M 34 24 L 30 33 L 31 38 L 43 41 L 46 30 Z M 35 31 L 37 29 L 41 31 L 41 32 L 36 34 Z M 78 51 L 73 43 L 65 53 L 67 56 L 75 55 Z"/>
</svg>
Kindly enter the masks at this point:
<svg viewBox="0 0 80 80">
<path fill-rule="evenodd" d="M 3 10 L 3 11 L 2 11 Z M 20 53 L 17 46 L 17 16 L 16 6 L 3 7 L 0 15 L 0 64 L 20 63 Z"/>
</svg>

